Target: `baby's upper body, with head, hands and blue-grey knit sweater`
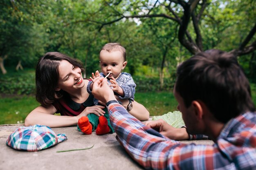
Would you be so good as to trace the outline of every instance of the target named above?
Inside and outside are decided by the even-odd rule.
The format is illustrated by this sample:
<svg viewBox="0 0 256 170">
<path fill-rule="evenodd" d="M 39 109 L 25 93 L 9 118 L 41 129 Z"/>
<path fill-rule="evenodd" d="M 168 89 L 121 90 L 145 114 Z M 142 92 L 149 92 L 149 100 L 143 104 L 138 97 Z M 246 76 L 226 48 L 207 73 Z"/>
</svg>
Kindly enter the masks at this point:
<svg viewBox="0 0 256 170">
<path fill-rule="evenodd" d="M 127 110 L 132 109 L 134 101 L 135 87 L 132 76 L 129 73 L 121 72 L 126 67 L 126 50 L 119 43 L 108 43 L 104 45 L 99 54 L 102 73 L 99 71 L 92 73 L 91 82 L 87 86 L 88 93 L 92 93 L 93 80 L 96 77 L 107 77 L 108 84 L 112 87 L 115 95 L 120 99 L 128 99 Z M 98 105 L 98 100 L 94 99 L 94 104 Z"/>
</svg>

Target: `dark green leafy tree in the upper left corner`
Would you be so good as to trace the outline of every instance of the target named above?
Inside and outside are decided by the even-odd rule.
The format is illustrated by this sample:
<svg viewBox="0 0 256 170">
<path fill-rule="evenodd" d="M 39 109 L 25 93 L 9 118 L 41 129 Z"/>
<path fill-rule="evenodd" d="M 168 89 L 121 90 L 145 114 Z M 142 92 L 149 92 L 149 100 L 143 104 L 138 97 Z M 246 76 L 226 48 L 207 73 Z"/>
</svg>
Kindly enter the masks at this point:
<svg viewBox="0 0 256 170">
<path fill-rule="evenodd" d="M 24 9 L 27 3 L 2 0 L 0 2 L 0 67 L 3 74 L 4 60 L 8 59 L 18 63 L 36 60 L 36 54 L 42 54 L 43 42 L 41 42 L 40 25 L 30 21 L 30 16 Z"/>
</svg>

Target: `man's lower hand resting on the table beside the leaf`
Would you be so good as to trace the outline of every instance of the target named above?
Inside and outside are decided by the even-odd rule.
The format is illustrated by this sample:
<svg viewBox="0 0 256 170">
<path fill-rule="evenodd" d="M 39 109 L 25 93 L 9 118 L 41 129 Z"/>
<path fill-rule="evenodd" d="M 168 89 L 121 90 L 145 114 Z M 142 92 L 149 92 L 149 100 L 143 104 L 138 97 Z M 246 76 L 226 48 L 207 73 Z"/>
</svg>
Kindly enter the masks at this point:
<svg viewBox="0 0 256 170">
<path fill-rule="evenodd" d="M 157 130 L 162 135 L 173 140 L 189 139 L 189 134 L 186 132 L 186 128 L 174 128 L 163 119 L 158 119 L 155 121 L 146 121 L 145 125 Z"/>
</svg>

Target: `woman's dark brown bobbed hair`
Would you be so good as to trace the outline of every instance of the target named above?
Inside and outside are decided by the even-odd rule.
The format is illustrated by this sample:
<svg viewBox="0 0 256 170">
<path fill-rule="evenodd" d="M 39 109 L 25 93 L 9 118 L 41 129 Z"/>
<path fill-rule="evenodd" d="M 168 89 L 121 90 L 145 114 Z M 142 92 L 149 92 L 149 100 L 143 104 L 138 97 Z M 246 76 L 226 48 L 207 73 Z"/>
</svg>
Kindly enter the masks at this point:
<svg viewBox="0 0 256 170">
<path fill-rule="evenodd" d="M 52 104 L 63 96 L 63 91 L 56 91 L 59 79 L 58 66 L 62 60 L 67 60 L 84 71 L 81 61 L 71 58 L 63 53 L 46 53 L 36 66 L 36 100 L 43 106 Z"/>
</svg>

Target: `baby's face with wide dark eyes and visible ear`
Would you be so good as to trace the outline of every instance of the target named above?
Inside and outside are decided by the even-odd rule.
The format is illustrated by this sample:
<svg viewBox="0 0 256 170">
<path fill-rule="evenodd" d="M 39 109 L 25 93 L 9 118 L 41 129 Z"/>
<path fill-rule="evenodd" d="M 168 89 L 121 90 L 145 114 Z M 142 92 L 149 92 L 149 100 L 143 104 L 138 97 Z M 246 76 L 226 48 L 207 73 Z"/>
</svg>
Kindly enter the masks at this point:
<svg viewBox="0 0 256 170">
<path fill-rule="evenodd" d="M 106 50 L 102 50 L 99 54 L 101 71 L 106 76 L 110 72 L 111 74 L 108 78 L 117 78 L 121 74 L 121 71 L 126 66 L 126 61 L 124 61 L 124 57 L 120 51 L 112 51 L 108 52 Z"/>
</svg>

